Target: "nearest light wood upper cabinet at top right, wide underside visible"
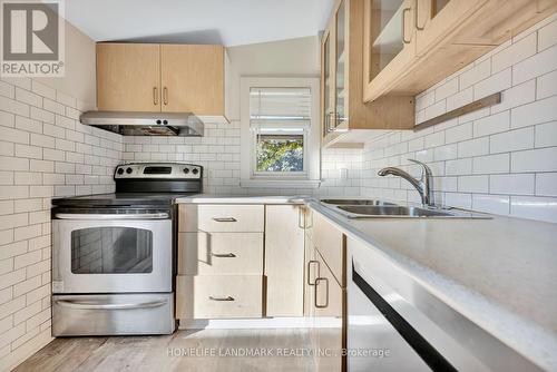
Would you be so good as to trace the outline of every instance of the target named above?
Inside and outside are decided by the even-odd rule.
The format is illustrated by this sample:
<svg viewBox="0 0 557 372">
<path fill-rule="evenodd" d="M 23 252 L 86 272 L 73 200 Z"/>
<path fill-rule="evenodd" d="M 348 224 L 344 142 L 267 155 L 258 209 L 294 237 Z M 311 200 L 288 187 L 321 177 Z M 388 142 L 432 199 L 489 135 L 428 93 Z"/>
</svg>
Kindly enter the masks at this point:
<svg viewBox="0 0 557 372">
<path fill-rule="evenodd" d="M 364 1 L 363 99 L 370 102 L 391 96 L 414 96 L 557 11 L 557 0 Z M 387 11 L 395 7 L 389 3 L 401 4 L 392 17 Z M 387 16 L 374 19 L 377 4 L 384 4 L 382 13 Z M 394 22 L 384 22 L 385 19 Z M 403 32 L 390 38 L 395 41 L 397 55 L 385 52 L 377 57 L 378 40 L 382 40 L 390 23 L 404 25 L 400 26 Z"/>
</svg>

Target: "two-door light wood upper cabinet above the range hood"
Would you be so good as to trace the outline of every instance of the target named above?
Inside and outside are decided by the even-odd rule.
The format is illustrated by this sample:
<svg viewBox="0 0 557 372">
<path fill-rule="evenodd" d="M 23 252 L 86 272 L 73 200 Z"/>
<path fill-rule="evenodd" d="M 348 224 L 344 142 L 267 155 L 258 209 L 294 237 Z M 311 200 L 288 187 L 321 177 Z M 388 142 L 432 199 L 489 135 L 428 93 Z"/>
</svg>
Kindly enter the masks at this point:
<svg viewBox="0 0 557 372">
<path fill-rule="evenodd" d="M 97 106 L 224 117 L 223 46 L 97 43 Z"/>
</svg>

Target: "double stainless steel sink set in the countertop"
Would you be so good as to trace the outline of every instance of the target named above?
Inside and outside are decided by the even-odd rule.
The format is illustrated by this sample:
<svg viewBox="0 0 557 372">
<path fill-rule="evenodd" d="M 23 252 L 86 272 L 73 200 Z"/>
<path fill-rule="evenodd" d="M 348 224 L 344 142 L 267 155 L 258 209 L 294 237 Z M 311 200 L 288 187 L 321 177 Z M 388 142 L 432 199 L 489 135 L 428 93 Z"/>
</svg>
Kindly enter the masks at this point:
<svg viewBox="0 0 557 372">
<path fill-rule="evenodd" d="M 349 218 L 491 218 L 463 209 L 405 206 L 377 199 L 322 199 L 321 203 Z"/>
</svg>

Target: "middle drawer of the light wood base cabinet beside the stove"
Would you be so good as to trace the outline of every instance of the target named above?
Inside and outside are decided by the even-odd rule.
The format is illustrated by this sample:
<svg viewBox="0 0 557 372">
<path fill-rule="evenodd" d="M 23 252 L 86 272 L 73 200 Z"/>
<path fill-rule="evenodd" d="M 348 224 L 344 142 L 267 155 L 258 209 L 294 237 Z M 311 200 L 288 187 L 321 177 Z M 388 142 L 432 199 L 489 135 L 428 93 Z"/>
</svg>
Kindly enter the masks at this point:
<svg viewBox="0 0 557 372">
<path fill-rule="evenodd" d="M 263 233 L 179 233 L 178 275 L 263 275 Z"/>
</svg>

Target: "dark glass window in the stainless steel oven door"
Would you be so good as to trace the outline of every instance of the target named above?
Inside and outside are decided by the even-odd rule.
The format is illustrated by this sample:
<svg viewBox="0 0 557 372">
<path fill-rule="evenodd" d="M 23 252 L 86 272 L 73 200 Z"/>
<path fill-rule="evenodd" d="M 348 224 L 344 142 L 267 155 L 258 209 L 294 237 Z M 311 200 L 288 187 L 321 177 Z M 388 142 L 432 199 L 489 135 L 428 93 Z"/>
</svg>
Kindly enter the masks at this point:
<svg viewBox="0 0 557 372">
<path fill-rule="evenodd" d="M 134 227 L 91 227 L 71 232 L 74 274 L 153 272 L 153 233 Z"/>
</svg>

